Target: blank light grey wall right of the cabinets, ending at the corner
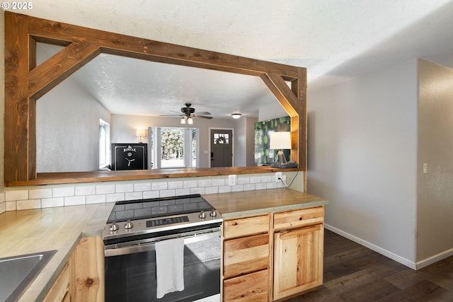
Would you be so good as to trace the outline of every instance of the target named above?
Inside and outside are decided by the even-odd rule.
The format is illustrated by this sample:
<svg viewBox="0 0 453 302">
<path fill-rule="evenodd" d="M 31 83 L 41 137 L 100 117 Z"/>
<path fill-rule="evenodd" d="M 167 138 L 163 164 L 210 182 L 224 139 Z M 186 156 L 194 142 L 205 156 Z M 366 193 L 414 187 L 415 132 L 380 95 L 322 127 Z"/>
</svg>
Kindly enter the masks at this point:
<svg viewBox="0 0 453 302">
<path fill-rule="evenodd" d="M 307 192 L 329 200 L 326 224 L 413 265 L 416 60 L 309 91 Z"/>
</svg>

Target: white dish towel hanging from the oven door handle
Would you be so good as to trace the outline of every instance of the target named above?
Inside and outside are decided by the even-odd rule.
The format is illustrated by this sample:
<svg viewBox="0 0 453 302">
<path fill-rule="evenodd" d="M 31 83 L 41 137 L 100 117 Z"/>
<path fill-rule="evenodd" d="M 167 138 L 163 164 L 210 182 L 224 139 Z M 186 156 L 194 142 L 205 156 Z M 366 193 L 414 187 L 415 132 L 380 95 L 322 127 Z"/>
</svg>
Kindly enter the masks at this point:
<svg viewBox="0 0 453 302">
<path fill-rule="evenodd" d="M 156 242 L 156 297 L 184 290 L 184 238 Z"/>
</svg>

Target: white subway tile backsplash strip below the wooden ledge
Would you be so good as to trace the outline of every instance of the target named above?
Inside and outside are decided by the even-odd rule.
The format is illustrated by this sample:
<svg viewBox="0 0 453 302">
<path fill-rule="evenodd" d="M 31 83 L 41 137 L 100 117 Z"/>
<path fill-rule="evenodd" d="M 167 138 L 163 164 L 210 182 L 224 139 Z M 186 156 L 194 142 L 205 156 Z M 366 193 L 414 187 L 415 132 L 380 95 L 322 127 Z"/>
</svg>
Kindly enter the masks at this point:
<svg viewBox="0 0 453 302">
<path fill-rule="evenodd" d="M 239 175 L 238 185 L 229 186 L 228 176 L 209 178 L 179 178 L 176 180 L 143 180 L 105 182 L 87 185 L 55 185 L 52 188 L 32 187 L 30 190 L 8 188 L 0 198 L 1 211 L 64 207 L 76 204 L 119 202 L 133 199 L 173 197 L 188 194 L 218 194 L 284 187 L 275 182 L 273 173 Z M 282 175 L 286 181 L 286 175 Z M 2 202 L 2 201 L 5 202 Z"/>
</svg>

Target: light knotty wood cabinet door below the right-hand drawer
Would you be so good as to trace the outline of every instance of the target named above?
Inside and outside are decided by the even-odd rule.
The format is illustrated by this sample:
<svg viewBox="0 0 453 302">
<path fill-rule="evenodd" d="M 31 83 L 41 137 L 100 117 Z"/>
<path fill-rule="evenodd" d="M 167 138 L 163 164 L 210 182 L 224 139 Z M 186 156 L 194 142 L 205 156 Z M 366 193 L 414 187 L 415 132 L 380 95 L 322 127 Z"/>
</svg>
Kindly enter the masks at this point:
<svg viewBox="0 0 453 302">
<path fill-rule="evenodd" d="M 323 238 L 323 224 L 275 233 L 274 300 L 322 284 Z"/>
</svg>

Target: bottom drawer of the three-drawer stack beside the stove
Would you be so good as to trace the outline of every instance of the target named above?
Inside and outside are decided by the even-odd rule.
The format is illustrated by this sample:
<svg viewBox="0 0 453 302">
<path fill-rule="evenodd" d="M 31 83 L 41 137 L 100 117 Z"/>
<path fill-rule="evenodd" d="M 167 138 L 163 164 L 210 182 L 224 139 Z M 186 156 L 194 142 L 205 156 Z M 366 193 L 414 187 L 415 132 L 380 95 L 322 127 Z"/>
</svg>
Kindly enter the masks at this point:
<svg viewBox="0 0 453 302">
<path fill-rule="evenodd" d="M 224 302 L 268 301 L 268 269 L 224 281 Z"/>
</svg>

